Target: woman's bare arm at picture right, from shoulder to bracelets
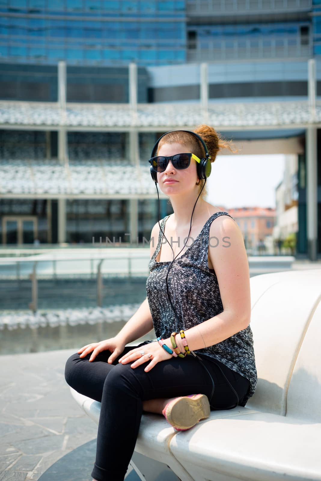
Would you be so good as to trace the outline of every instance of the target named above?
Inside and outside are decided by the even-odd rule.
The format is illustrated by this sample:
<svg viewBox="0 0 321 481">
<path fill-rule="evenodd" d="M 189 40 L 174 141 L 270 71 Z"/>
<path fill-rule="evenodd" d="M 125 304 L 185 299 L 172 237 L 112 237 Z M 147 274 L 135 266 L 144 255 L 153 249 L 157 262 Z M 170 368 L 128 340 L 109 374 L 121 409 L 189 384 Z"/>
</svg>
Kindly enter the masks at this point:
<svg viewBox="0 0 321 481">
<path fill-rule="evenodd" d="M 242 232 L 230 217 L 222 215 L 215 222 L 210 226 L 209 257 L 217 276 L 223 312 L 185 330 L 192 351 L 222 342 L 246 329 L 250 322 L 249 268 Z M 165 342 L 172 346 L 170 339 Z"/>
</svg>

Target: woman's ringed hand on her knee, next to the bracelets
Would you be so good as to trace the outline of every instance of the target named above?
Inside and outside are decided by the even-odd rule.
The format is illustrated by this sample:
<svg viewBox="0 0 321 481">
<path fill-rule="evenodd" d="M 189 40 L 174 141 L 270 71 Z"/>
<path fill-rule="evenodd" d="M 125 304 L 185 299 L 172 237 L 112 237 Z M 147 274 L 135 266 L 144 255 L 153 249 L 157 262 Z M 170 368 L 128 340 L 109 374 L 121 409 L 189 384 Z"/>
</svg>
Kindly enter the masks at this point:
<svg viewBox="0 0 321 481">
<path fill-rule="evenodd" d="M 142 355 L 139 351 L 144 351 L 145 354 Z M 148 357 L 148 354 L 151 354 L 150 358 Z M 129 351 L 119 359 L 119 362 L 122 364 L 127 364 L 128 362 L 135 361 L 131 365 L 131 367 L 135 369 L 135 367 L 150 361 L 148 366 L 146 366 L 144 369 L 144 371 L 147 372 L 156 366 L 158 362 L 171 359 L 171 357 L 173 357 L 173 355 L 165 351 L 165 349 L 161 347 L 158 342 L 150 342 L 149 344 L 136 347 L 136 349 Z"/>
</svg>

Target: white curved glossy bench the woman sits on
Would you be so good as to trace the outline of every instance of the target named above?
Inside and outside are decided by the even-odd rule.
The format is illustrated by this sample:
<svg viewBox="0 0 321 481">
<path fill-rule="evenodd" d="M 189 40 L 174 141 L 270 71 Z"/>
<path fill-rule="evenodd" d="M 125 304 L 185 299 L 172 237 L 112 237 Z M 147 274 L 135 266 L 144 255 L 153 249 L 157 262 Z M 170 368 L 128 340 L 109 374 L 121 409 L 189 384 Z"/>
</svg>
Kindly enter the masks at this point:
<svg viewBox="0 0 321 481">
<path fill-rule="evenodd" d="M 256 392 L 187 431 L 143 414 L 131 461 L 141 479 L 321 481 L 321 269 L 262 274 L 250 286 Z M 100 403 L 71 392 L 98 424 Z"/>
</svg>

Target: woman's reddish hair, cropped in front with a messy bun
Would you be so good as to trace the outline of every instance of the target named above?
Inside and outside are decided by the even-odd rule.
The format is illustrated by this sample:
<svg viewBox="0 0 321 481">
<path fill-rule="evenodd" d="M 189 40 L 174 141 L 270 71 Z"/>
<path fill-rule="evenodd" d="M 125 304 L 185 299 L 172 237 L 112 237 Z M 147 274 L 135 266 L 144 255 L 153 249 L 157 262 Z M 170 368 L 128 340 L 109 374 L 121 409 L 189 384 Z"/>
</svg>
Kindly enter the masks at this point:
<svg viewBox="0 0 321 481">
<path fill-rule="evenodd" d="M 213 127 L 205 124 L 199 125 L 194 129 L 194 132 L 204 140 L 211 157 L 211 163 L 215 161 L 218 152 L 220 152 L 222 149 L 229 149 L 232 153 L 238 152 L 236 148 L 234 148 L 234 150 L 231 148 L 232 140 L 224 139 Z M 188 145 L 190 147 L 190 151 L 197 155 L 199 159 L 205 157 L 204 147 L 198 138 L 182 130 L 175 130 L 174 132 L 171 132 L 160 139 L 155 155 L 157 155 L 162 145 L 173 143 L 184 144 L 186 146 Z M 200 179 L 198 192 L 202 190 L 204 183 L 205 180 Z M 207 190 L 204 188 L 200 197 L 204 198 L 206 195 Z"/>
</svg>

